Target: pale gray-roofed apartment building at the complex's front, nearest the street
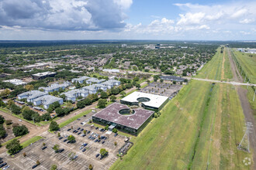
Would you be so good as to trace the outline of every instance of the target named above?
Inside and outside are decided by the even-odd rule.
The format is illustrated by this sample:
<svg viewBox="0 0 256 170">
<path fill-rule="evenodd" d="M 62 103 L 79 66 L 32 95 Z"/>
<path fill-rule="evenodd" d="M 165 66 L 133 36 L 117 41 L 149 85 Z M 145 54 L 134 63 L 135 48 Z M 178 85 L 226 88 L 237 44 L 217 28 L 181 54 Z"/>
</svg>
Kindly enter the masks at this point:
<svg viewBox="0 0 256 170">
<path fill-rule="evenodd" d="M 33 104 L 36 106 L 39 106 L 43 104 L 43 107 L 45 109 L 48 109 L 50 104 L 54 104 L 54 102 L 59 102 L 59 104 L 63 104 L 63 99 L 61 97 L 54 97 L 51 95 L 45 95 L 42 97 L 38 97 L 35 100 L 33 100 Z"/>
</svg>

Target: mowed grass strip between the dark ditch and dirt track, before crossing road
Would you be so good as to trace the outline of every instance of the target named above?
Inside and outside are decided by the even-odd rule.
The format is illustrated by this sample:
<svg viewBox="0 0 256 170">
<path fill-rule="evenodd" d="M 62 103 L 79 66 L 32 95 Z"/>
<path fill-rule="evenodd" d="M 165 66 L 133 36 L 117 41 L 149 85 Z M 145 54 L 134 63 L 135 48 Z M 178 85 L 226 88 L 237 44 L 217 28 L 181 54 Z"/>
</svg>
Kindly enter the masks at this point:
<svg viewBox="0 0 256 170">
<path fill-rule="evenodd" d="M 217 83 L 209 100 L 192 169 L 250 169 L 237 150 L 244 135 L 244 114 L 235 87 Z M 252 168 L 252 167 L 251 167 Z"/>
</svg>

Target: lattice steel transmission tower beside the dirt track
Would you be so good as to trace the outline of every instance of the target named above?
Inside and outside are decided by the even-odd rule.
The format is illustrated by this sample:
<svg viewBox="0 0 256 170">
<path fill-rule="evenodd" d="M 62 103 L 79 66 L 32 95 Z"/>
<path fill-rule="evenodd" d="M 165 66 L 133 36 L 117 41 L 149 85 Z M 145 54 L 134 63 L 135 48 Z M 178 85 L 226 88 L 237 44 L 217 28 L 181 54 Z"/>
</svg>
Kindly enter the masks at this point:
<svg viewBox="0 0 256 170">
<path fill-rule="evenodd" d="M 249 141 L 249 134 L 251 133 L 252 130 L 252 123 L 247 122 L 244 125 L 244 136 L 242 140 L 240 141 L 240 144 L 238 145 L 237 149 L 240 149 L 242 151 L 247 151 L 250 153 L 250 141 Z"/>
</svg>

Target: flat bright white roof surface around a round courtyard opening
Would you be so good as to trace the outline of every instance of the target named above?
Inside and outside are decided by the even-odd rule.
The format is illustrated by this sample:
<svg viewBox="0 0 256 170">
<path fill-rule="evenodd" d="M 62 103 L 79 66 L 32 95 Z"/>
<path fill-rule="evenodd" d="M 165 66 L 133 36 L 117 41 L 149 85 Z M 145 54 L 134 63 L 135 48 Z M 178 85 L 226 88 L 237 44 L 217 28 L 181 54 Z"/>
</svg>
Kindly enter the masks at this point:
<svg viewBox="0 0 256 170">
<path fill-rule="evenodd" d="M 164 104 L 164 101 L 168 100 L 168 97 L 164 97 L 164 96 L 160 96 L 160 95 L 156 95 L 156 94 L 151 94 L 151 93 L 142 93 L 142 92 L 138 92 L 138 91 L 135 91 L 135 92 L 131 93 L 130 95 L 124 97 L 122 100 L 133 103 L 133 102 L 138 102 L 137 99 L 140 98 L 140 97 L 145 97 L 145 98 L 150 99 L 147 102 L 141 102 L 145 106 L 157 107 L 157 108 L 161 107 L 161 105 Z"/>
</svg>

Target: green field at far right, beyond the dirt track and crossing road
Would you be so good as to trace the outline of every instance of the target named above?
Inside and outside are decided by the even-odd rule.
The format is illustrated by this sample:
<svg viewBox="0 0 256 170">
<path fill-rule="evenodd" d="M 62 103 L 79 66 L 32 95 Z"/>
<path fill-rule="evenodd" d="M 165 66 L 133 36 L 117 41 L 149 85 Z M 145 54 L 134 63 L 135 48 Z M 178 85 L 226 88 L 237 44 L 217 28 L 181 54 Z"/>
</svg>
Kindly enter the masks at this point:
<svg viewBox="0 0 256 170">
<path fill-rule="evenodd" d="M 256 83 L 256 54 L 241 53 L 236 49 L 232 50 L 240 66 L 250 78 L 251 83 Z"/>
</svg>

